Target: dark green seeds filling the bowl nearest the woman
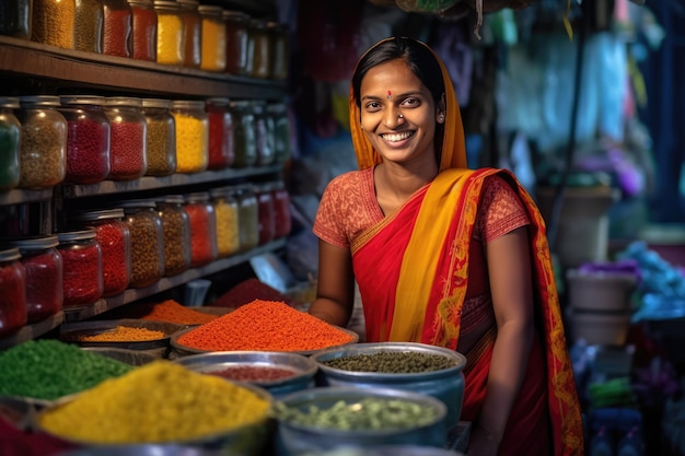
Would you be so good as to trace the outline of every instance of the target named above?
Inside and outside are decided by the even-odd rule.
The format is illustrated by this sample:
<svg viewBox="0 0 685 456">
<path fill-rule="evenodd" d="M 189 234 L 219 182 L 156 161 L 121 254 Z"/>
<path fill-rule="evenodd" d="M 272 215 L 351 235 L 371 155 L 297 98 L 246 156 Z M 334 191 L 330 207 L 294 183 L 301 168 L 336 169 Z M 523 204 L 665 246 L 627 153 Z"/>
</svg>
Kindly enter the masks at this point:
<svg viewBox="0 0 685 456">
<path fill-rule="evenodd" d="M 350 372 L 380 372 L 385 374 L 418 374 L 456 366 L 456 361 L 433 353 L 411 351 L 380 351 L 351 354 L 321 361 L 322 364 Z"/>
</svg>

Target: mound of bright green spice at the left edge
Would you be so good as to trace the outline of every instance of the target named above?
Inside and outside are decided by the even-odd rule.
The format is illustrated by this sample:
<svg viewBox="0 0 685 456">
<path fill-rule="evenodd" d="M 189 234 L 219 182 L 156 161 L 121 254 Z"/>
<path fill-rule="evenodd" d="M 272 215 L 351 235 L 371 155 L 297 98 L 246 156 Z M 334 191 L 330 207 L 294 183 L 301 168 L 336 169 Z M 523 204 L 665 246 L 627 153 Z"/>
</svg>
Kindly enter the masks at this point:
<svg viewBox="0 0 685 456">
<path fill-rule="evenodd" d="M 59 340 L 30 340 L 0 352 L 0 395 L 55 400 L 132 369 Z"/>
</svg>

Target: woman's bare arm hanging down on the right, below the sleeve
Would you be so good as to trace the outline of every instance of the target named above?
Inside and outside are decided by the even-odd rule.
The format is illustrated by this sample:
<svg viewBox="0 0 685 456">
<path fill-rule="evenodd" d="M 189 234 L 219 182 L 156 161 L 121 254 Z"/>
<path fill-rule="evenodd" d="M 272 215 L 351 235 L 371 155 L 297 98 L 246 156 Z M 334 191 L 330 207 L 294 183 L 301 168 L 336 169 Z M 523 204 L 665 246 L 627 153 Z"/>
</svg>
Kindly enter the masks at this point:
<svg viewBox="0 0 685 456">
<path fill-rule="evenodd" d="M 501 441 L 525 375 L 534 337 L 533 290 L 527 229 L 516 229 L 487 244 L 486 255 L 497 339 L 483 409 L 476 423 Z"/>
</svg>

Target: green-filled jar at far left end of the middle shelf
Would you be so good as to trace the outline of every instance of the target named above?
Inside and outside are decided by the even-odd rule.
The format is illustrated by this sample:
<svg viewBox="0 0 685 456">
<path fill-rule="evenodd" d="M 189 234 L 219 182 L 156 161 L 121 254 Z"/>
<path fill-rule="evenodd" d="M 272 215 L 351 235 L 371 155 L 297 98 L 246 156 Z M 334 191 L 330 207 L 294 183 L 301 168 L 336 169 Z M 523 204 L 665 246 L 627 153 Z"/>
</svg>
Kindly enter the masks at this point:
<svg viewBox="0 0 685 456">
<path fill-rule="evenodd" d="M 19 144 L 22 126 L 14 115 L 19 98 L 0 97 L 0 191 L 19 185 Z"/>
</svg>

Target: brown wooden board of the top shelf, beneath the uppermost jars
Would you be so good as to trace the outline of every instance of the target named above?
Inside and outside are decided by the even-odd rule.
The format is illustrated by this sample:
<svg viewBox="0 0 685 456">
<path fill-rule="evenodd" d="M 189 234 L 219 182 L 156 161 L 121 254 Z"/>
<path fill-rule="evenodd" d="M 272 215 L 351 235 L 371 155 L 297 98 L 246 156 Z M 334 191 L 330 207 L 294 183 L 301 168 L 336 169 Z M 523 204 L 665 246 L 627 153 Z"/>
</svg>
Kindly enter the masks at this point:
<svg viewBox="0 0 685 456">
<path fill-rule="evenodd" d="M 265 80 L 160 65 L 127 57 L 62 49 L 27 39 L 0 36 L 0 75 L 53 80 L 60 87 L 153 94 L 164 97 L 211 97 L 280 100 L 285 81 Z"/>
</svg>

